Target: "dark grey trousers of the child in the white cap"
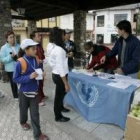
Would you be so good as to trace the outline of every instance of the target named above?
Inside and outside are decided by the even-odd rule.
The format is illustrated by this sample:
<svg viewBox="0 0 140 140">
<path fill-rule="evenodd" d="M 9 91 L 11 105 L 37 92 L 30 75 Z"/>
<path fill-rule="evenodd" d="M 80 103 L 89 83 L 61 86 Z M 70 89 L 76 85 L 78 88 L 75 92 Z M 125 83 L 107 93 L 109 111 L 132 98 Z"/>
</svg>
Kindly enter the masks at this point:
<svg viewBox="0 0 140 140">
<path fill-rule="evenodd" d="M 34 138 L 38 138 L 41 134 L 38 95 L 36 95 L 34 98 L 29 98 L 26 97 L 24 93 L 19 93 L 19 108 L 20 108 L 20 124 L 25 124 L 27 122 L 28 108 L 30 109 Z"/>
</svg>

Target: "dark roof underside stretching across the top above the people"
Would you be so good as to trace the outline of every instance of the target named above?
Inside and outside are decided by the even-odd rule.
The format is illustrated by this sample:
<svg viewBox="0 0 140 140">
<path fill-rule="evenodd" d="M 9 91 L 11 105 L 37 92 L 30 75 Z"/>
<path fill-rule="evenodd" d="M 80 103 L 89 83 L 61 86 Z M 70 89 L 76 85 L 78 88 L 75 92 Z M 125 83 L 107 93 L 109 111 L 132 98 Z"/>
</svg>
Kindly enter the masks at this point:
<svg viewBox="0 0 140 140">
<path fill-rule="evenodd" d="M 19 6 L 19 0 L 11 0 L 13 10 Z M 104 2 L 104 4 L 102 4 Z M 16 19 L 41 19 L 70 14 L 77 10 L 105 9 L 120 5 L 138 3 L 139 0 L 23 0 L 26 8 L 25 17 L 16 16 Z M 44 8 L 45 7 L 45 8 Z"/>
</svg>

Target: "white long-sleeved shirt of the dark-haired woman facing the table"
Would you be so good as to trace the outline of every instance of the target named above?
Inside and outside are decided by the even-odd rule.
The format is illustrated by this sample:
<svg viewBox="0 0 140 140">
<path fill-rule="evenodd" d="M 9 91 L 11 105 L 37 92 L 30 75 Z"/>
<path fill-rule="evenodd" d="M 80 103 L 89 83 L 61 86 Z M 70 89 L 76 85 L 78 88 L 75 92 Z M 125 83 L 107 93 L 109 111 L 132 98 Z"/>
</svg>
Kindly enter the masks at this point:
<svg viewBox="0 0 140 140">
<path fill-rule="evenodd" d="M 59 74 L 61 77 L 68 74 L 68 58 L 66 52 L 61 47 L 49 43 L 47 47 L 48 62 L 52 67 L 52 73 Z"/>
</svg>

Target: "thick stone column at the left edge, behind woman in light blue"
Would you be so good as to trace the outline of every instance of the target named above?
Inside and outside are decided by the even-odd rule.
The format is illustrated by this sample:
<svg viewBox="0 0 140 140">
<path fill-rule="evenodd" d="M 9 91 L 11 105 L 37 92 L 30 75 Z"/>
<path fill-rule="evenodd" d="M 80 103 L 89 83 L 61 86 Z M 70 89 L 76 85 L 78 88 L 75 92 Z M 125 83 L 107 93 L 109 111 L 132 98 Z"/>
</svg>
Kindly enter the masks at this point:
<svg viewBox="0 0 140 140">
<path fill-rule="evenodd" d="M 11 16 L 11 7 L 10 0 L 1 0 L 0 1 L 0 48 L 5 44 L 5 33 L 7 30 L 12 29 L 11 25 L 12 16 Z M 2 82 L 7 82 L 8 78 L 4 72 L 3 64 L 0 62 L 0 80 Z"/>
</svg>

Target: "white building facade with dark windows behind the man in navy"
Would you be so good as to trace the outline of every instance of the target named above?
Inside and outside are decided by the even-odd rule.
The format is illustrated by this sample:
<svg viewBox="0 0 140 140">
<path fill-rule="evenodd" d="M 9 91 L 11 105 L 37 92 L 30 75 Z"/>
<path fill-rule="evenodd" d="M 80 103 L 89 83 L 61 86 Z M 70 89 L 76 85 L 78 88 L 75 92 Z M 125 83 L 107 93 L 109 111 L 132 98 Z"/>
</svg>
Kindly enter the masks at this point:
<svg viewBox="0 0 140 140">
<path fill-rule="evenodd" d="M 121 20 L 130 21 L 133 34 L 135 34 L 136 22 L 134 22 L 134 15 L 136 6 L 137 4 L 132 4 L 93 11 L 95 15 L 95 43 L 114 44 L 118 38 L 116 24 Z"/>
</svg>

